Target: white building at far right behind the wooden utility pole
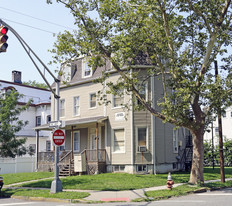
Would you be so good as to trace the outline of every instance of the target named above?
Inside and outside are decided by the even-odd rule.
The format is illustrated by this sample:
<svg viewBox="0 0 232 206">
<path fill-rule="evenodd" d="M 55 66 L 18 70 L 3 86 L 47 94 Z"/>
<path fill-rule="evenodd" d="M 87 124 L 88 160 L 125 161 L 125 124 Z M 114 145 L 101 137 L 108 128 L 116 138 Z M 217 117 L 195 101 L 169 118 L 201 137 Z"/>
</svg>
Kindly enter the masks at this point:
<svg viewBox="0 0 232 206">
<path fill-rule="evenodd" d="M 232 140 L 232 107 L 226 109 L 224 113 L 222 113 L 222 135 L 223 140 Z M 204 140 L 208 141 L 214 145 L 219 145 L 219 131 L 218 131 L 218 118 L 213 121 L 213 123 L 209 124 L 205 135 Z"/>
</svg>

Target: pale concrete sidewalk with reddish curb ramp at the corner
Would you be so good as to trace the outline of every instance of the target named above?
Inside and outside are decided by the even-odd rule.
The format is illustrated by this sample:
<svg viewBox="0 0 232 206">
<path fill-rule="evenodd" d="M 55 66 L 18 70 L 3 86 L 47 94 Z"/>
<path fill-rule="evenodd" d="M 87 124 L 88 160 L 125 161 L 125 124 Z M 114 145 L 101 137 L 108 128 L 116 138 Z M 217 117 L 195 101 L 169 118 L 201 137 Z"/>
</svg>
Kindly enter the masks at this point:
<svg viewBox="0 0 232 206">
<path fill-rule="evenodd" d="M 228 180 L 232 180 L 232 178 L 226 179 L 226 181 Z M 205 181 L 205 183 L 217 182 L 217 181 L 220 181 L 220 180 L 209 180 L 209 181 Z M 33 182 L 33 181 L 30 181 L 30 182 Z M 22 184 L 22 182 L 18 184 L 4 186 L 4 188 L 16 189 L 18 188 L 17 185 L 19 184 Z M 183 184 L 184 183 L 174 184 L 173 187 L 178 187 Z M 48 188 L 27 188 L 27 189 L 47 189 L 48 190 Z M 126 201 L 126 202 L 130 202 L 137 198 L 146 198 L 145 192 L 147 191 L 155 191 L 155 190 L 163 190 L 163 189 L 167 189 L 167 186 L 163 185 L 163 186 L 156 186 L 156 187 L 136 189 L 136 190 L 126 190 L 126 191 L 95 191 L 95 190 L 74 190 L 74 189 L 64 189 L 63 191 L 88 192 L 90 193 L 90 195 L 84 198 L 84 200 L 86 201 L 106 201 L 106 202 Z"/>
</svg>

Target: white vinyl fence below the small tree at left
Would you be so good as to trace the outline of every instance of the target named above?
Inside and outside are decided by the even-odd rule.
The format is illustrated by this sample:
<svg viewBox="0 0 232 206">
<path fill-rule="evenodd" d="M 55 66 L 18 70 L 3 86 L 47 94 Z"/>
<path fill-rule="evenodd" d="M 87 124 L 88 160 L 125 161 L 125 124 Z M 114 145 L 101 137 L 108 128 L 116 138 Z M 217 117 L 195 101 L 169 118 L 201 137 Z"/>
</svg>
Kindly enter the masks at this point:
<svg viewBox="0 0 232 206">
<path fill-rule="evenodd" d="M 36 157 L 0 158 L 0 174 L 35 172 Z"/>
</svg>

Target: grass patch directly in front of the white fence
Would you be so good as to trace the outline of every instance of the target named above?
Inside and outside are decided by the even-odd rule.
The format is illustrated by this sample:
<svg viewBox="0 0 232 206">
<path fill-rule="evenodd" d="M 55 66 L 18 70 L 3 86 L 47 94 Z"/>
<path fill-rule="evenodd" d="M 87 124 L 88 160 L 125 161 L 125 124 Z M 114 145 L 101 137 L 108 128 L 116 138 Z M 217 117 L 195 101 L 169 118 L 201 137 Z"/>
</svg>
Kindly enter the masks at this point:
<svg viewBox="0 0 232 206">
<path fill-rule="evenodd" d="M 2 174 L 4 185 L 10 185 L 14 183 L 29 181 L 29 180 L 39 180 L 48 177 L 54 177 L 53 172 L 28 172 L 28 173 L 12 173 L 12 174 Z"/>
</svg>

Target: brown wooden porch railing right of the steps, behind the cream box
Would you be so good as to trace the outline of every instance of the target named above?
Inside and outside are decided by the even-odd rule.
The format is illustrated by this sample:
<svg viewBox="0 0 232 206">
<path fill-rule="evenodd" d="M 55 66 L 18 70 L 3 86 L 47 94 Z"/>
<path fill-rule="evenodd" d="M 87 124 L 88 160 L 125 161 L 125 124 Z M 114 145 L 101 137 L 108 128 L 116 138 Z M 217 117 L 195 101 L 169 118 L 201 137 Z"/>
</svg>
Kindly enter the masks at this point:
<svg viewBox="0 0 232 206">
<path fill-rule="evenodd" d="M 97 160 L 97 150 L 89 150 L 85 149 L 82 153 L 86 154 L 87 162 L 106 162 L 106 150 L 99 149 L 98 150 L 98 160 Z"/>
</svg>

